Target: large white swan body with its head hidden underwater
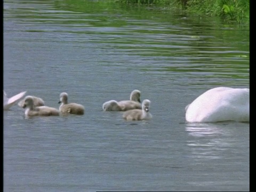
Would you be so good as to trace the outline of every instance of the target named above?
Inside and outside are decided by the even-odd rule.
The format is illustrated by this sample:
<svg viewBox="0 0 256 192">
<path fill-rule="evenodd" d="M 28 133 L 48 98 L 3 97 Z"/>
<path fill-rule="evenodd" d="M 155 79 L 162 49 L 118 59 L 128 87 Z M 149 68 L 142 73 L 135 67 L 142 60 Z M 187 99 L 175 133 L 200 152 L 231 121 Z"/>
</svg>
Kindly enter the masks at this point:
<svg viewBox="0 0 256 192">
<path fill-rule="evenodd" d="M 231 87 L 210 89 L 186 106 L 187 122 L 250 122 L 250 90 Z"/>
</svg>

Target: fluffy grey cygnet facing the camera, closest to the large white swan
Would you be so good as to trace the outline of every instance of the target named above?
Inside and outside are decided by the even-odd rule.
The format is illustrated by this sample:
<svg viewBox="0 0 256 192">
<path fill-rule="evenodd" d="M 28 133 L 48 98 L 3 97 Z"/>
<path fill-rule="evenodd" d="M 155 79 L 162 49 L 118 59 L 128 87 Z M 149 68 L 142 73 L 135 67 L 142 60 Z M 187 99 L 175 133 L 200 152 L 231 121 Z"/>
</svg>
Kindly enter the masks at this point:
<svg viewBox="0 0 256 192">
<path fill-rule="evenodd" d="M 150 101 L 148 99 L 143 100 L 142 109 L 132 109 L 125 111 L 123 118 L 126 120 L 139 121 L 151 119 L 152 115 L 149 113 Z"/>
</svg>

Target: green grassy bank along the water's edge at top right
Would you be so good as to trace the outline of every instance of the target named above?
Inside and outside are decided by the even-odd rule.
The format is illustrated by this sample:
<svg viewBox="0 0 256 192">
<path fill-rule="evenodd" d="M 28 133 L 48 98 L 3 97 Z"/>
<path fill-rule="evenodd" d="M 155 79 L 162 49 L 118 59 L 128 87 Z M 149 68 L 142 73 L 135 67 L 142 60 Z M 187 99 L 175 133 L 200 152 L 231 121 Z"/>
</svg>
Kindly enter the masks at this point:
<svg viewBox="0 0 256 192">
<path fill-rule="evenodd" d="M 117 0 L 125 4 L 148 4 L 189 14 L 218 16 L 238 23 L 249 22 L 249 0 Z"/>
</svg>

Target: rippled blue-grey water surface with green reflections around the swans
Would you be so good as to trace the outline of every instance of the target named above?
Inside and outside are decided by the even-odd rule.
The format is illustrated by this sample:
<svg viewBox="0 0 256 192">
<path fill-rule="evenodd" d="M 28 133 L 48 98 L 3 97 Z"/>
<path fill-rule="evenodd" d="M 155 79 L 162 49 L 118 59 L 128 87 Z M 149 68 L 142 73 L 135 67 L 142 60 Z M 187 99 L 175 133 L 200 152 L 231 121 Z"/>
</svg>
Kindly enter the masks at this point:
<svg viewBox="0 0 256 192">
<path fill-rule="evenodd" d="M 4 111 L 4 191 L 249 190 L 249 124 L 185 122 L 215 86 L 249 87 L 249 26 L 102 1 L 4 2 L 4 90 L 85 115 Z M 102 103 L 151 101 L 126 122 Z"/>
</svg>

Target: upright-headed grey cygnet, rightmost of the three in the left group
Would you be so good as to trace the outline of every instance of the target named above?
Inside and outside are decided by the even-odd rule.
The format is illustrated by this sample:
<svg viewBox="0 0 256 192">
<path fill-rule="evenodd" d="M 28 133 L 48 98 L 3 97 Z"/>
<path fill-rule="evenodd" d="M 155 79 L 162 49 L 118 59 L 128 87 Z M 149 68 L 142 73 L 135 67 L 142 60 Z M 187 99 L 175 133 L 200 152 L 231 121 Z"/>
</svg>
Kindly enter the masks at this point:
<svg viewBox="0 0 256 192">
<path fill-rule="evenodd" d="M 68 103 L 68 94 L 65 92 L 60 93 L 59 103 L 61 103 L 59 107 L 61 114 L 74 114 L 74 115 L 84 114 L 84 106 L 77 103 Z"/>
</svg>

